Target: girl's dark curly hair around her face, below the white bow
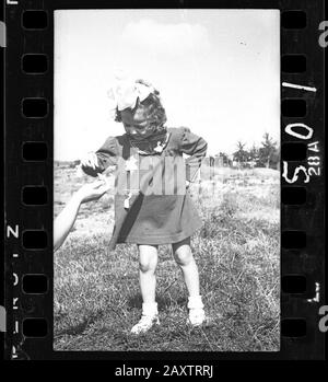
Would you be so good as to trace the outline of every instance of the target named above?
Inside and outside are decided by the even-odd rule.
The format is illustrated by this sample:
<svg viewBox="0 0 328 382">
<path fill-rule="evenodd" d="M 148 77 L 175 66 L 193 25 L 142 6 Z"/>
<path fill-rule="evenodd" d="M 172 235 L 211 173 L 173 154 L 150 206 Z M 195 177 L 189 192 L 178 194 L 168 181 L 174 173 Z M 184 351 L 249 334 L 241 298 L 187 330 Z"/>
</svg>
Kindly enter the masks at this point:
<svg viewBox="0 0 328 382">
<path fill-rule="evenodd" d="M 148 86 L 151 85 L 149 82 L 144 80 L 137 80 L 136 83 L 142 83 Z M 166 113 L 161 103 L 160 92 L 156 89 L 154 89 L 154 91 L 150 93 L 150 95 L 142 102 L 140 102 L 138 99 L 134 109 L 137 109 L 140 104 L 147 107 L 148 109 L 147 119 L 150 121 L 151 125 L 153 125 L 154 127 L 156 126 L 157 128 L 161 128 L 166 123 Z M 117 107 L 116 107 L 114 119 L 116 121 L 121 121 L 121 114 Z"/>
</svg>

